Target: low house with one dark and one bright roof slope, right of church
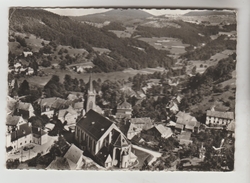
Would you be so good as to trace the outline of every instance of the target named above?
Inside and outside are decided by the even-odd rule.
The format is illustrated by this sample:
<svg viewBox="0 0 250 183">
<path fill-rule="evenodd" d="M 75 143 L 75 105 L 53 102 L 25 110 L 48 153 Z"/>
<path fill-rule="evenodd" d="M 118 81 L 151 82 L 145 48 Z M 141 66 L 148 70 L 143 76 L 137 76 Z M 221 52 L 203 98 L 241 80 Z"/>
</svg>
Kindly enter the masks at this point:
<svg viewBox="0 0 250 183">
<path fill-rule="evenodd" d="M 173 132 L 171 128 L 159 124 L 159 125 L 154 125 L 154 127 L 147 130 L 147 134 L 152 135 L 154 137 L 161 137 L 167 139 L 173 135 Z"/>
</svg>

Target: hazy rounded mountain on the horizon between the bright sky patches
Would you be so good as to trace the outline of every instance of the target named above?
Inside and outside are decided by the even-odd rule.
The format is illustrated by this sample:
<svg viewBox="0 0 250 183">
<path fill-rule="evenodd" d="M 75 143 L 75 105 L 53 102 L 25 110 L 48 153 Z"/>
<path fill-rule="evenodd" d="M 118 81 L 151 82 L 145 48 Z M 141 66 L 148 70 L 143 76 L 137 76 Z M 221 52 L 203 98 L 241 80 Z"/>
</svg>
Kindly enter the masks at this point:
<svg viewBox="0 0 250 183">
<path fill-rule="evenodd" d="M 144 19 L 153 15 L 139 9 L 114 9 L 103 13 L 95 13 L 84 16 L 71 16 L 78 21 L 91 21 L 102 23 L 104 21 L 127 21 L 130 19 Z"/>
</svg>

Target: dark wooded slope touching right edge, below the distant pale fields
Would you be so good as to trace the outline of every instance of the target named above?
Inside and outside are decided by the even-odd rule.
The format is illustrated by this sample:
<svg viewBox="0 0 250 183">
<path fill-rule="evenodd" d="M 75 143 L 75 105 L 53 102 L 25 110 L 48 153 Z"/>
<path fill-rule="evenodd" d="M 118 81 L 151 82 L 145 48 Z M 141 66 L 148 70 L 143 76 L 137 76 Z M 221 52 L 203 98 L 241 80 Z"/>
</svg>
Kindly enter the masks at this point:
<svg viewBox="0 0 250 183">
<path fill-rule="evenodd" d="M 181 58 L 187 60 L 207 60 L 216 53 L 222 52 L 226 49 L 236 50 L 236 41 L 230 40 L 226 36 L 220 36 L 217 39 L 208 42 L 201 48 L 184 53 L 181 55 Z"/>
</svg>

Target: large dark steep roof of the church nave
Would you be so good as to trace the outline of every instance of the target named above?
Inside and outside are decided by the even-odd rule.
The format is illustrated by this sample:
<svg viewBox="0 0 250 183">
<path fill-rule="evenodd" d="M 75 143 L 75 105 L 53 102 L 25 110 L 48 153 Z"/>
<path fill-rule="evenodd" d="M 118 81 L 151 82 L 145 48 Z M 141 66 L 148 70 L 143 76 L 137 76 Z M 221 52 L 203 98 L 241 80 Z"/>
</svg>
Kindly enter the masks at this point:
<svg viewBox="0 0 250 183">
<path fill-rule="evenodd" d="M 99 140 L 112 124 L 112 121 L 90 109 L 76 125 L 95 140 Z"/>
</svg>

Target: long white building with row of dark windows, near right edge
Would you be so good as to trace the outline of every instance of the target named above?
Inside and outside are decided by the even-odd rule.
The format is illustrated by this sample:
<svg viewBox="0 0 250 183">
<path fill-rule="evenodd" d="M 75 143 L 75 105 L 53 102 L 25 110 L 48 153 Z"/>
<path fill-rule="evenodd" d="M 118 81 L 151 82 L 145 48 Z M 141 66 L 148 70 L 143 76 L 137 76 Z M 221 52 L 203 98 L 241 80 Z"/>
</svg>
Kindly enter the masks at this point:
<svg viewBox="0 0 250 183">
<path fill-rule="evenodd" d="M 227 126 L 233 120 L 233 112 L 215 111 L 214 108 L 207 111 L 206 125 Z"/>
</svg>

